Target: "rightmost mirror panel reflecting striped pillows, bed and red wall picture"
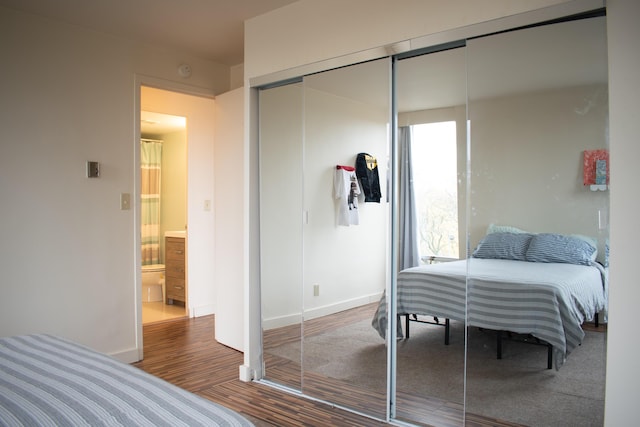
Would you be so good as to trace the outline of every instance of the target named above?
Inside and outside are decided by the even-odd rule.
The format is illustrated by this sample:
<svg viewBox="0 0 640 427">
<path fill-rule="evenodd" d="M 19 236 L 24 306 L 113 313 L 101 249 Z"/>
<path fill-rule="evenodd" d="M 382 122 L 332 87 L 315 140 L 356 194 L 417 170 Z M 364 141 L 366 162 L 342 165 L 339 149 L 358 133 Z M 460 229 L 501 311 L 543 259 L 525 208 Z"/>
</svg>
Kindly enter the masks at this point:
<svg viewBox="0 0 640 427">
<path fill-rule="evenodd" d="M 469 40 L 467 61 L 469 246 L 478 248 L 467 419 L 602 425 L 607 334 L 593 315 L 605 320 L 605 17 Z M 592 188 L 585 178 L 596 173 L 602 186 Z M 509 279 L 495 282 L 487 268 Z"/>
</svg>

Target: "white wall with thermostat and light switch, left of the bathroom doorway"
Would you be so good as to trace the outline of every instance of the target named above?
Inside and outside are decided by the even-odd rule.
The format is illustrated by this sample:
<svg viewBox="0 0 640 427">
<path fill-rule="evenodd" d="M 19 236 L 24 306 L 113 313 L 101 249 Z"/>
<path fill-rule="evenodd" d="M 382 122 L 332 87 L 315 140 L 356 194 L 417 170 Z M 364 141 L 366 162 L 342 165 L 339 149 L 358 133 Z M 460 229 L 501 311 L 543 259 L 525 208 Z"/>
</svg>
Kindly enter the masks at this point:
<svg viewBox="0 0 640 427">
<path fill-rule="evenodd" d="M 0 335 L 53 333 L 135 360 L 136 212 L 120 193 L 135 192 L 136 76 L 221 93 L 229 69 L 5 8 L 0 56 Z"/>
</svg>

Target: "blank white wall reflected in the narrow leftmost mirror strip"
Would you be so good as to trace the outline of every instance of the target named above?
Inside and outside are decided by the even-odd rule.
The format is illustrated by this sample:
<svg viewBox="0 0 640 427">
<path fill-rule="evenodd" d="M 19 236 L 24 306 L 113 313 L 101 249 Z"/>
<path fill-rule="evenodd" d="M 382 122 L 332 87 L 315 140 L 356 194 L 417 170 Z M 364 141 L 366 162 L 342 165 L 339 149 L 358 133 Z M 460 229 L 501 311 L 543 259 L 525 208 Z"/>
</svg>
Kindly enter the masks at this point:
<svg viewBox="0 0 640 427">
<path fill-rule="evenodd" d="M 301 321 L 303 94 L 302 83 L 295 83 L 259 95 L 260 208 L 252 211 L 260 214 L 262 286 L 257 294 L 266 328 Z"/>
</svg>

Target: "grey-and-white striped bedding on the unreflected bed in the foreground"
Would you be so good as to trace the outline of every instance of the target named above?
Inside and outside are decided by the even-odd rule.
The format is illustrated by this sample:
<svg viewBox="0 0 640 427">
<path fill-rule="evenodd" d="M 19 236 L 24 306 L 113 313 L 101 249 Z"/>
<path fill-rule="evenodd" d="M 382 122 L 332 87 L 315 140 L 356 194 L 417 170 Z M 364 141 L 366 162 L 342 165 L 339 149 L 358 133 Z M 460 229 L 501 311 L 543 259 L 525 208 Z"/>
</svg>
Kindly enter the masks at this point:
<svg viewBox="0 0 640 427">
<path fill-rule="evenodd" d="M 251 426 L 240 414 L 51 335 L 0 338 L 2 426 Z"/>
</svg>

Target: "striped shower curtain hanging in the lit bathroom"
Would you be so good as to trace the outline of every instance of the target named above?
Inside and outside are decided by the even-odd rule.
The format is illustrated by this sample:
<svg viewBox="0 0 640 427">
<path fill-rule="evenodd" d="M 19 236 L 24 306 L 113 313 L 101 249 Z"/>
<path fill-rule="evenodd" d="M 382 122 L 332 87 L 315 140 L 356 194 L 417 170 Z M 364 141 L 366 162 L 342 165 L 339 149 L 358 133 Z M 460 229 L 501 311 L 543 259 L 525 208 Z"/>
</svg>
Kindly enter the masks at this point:
<svg viewBox="0 0 640 427">
<path fill-rule="evenodd" d="M 160 264 L 160 169 L 162 142 L 140 144 L 142 265 Z"/>
</svg>

